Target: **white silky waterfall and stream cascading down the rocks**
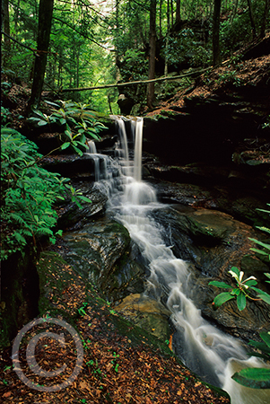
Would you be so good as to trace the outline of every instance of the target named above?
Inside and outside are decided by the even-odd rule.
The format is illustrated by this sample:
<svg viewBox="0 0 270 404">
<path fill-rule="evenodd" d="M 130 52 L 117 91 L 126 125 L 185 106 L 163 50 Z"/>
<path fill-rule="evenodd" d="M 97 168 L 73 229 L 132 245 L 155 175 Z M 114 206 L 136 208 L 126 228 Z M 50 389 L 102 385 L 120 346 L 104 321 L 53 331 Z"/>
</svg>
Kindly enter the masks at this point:
<svg viewBox="0 0 270 404">
<path fill-rule="evenodd" d="M 161 204 L 152 187 L 142 181 L 143 119 L 133 119 L 130 124 L 132 153 L 128 152 L 125 122 L 116 120 L 120 137 L 117 163 L 109 162 L 115 175 L 109 173 L 110 170 L 107 180 L 98 186 L 107 188 L 109 209 L 126 226 L 148 265 L 150 276 L 144 293 L 164 303 L 171 312 L 171 321 L 177 329 L 174 335 L 176 354 L 205 382 L 228 391 L 232 404 L 269 404 L 269 390 L 244 388 L 231 379 L 231 374 L 240 368 L 259 367 L 262 363 L 255 357 L 248 359 L 236 338 L 203 319 L 189 298 L 192 284 L 187 263 L 173 255 L 162 240 L 162 229 L 151 218 L 152 208 L 161 207 Z M 132 154 L 133 159 L 130 158 Z"/>
</svg>

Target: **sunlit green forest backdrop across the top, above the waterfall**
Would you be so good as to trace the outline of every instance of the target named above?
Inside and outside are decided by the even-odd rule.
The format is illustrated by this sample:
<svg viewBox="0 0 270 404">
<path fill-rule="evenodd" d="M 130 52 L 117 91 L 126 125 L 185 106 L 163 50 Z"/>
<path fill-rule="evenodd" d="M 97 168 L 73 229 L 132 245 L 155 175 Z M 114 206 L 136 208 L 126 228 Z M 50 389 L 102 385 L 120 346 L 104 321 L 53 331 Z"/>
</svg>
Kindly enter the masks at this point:
<svg viewBox="0 0 270 404">
<path fill-rule="evenodd" d="M 269 0 L 3 0 L 2 16 L 2 72 L 58 98 L 61 89 L 144 81 L 218 65 L 264 37 L 270 24 Z M 127 111 L 136 111 L 146 103 L 152 108 L 179 85 L 187 80 L 62 92 L 61 98 L 118 113 L 119 93 Z M 39 93 L 30 103 L 39 103 Z"/>
</svg>

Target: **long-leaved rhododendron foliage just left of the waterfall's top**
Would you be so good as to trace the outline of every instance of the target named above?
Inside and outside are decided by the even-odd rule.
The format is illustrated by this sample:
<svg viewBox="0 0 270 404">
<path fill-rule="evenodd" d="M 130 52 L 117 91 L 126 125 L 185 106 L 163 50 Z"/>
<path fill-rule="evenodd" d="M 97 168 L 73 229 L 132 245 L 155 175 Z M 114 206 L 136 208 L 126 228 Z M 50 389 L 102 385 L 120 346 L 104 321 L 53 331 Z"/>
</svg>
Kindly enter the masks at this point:
<svg viewBox="0 0 270 404">
<path fill-rule="evenodd" d="M 95 119 L 95 113 L 89 110 L 89 104 L 83 104 L 71 101 L 46 101 L 50 106 L 54 107 L 52 113 L 47 115 L 40 110 L 34 110 L 35 117 L 29 120 L 38 124 L 39 127 L 57 124 L 62 129 L 63 140 L 61 149 L 65 150 L 72 147 L 74 152 L 83 155 L 82 149 L 87 150 L 87 139 L 99 139 L 100 131 L 106 128 Z M 57 108 L 56 108 L 57 107 Z"/>
</svg>

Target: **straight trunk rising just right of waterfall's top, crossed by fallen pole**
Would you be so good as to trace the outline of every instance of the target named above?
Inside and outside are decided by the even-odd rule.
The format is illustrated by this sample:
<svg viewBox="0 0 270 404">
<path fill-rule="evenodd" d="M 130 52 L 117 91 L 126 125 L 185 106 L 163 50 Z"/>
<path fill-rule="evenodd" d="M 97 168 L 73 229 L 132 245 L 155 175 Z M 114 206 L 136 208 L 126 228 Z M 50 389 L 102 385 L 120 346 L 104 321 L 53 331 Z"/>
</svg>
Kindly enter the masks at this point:
<svg viewBox="0 0 270 404">
<path fill-rule="evenodd" d="M 150 0 L 150 35 L 149 35 L 149 69 L 148 79 L 154 78 L 155 72 L 155 43 L 156 43 L 156 0 Z M 147 88 L 147 106 L 152 109 L 154 101 L 154 83 L 149 83 Z"/>
</svg>

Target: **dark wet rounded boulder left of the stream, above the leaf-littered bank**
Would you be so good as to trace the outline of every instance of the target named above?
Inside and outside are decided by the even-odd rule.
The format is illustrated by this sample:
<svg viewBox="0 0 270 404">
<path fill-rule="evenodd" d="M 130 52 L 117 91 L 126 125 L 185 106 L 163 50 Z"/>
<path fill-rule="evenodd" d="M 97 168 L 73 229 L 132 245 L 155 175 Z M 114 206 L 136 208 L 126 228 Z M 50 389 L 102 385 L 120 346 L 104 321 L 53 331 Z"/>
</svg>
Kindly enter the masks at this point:
<svg viewBox="0 0 270 404">
<path fill-rule="evenodd" d="M 80 275 L 91 279 L 110 301 L 144 291 L 145 268 L 122 224 L 100 217 L 81 230 L 65 233 L 62 255 Z"/>
</svg>

